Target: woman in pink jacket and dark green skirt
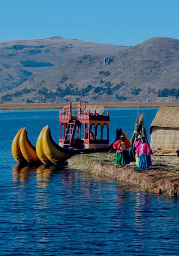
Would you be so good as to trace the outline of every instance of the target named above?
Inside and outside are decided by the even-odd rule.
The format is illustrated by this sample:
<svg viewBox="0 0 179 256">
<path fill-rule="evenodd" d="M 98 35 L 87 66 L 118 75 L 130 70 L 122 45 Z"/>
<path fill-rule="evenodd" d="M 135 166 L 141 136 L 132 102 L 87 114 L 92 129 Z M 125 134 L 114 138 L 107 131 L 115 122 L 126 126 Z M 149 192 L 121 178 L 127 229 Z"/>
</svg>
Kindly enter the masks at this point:
<svg viewBox="0 0 179 256">
<path fill-rule="evenodd" d="M 126 140 L 123 134 L 119 137 L 119 140 L 113 143 L 113 148 L 117 149 L 115 153 L 115 164 L 125 166 L 130 163 L 129 153 L 127 151 L 127 148 L 130 148 L 130 142 Z"/>
</svg>

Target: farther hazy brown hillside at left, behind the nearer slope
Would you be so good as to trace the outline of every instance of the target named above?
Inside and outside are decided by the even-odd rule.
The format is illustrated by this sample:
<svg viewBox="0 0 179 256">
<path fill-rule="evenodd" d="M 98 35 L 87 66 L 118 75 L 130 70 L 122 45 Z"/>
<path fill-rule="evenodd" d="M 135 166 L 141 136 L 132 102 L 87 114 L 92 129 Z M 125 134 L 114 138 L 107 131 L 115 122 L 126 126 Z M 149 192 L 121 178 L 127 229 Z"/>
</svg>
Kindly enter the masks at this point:
<svg viewBox="0 0 179 256">
<path fill-rule="evenodd" d="M 0 91 L 17 87 L 32 74 L 46 74 L 49 67 L 54 67 L 66 58 L 110 54 L 123 48 L 127 47 L 60 37 L 1 42 Z"/>
</svg>

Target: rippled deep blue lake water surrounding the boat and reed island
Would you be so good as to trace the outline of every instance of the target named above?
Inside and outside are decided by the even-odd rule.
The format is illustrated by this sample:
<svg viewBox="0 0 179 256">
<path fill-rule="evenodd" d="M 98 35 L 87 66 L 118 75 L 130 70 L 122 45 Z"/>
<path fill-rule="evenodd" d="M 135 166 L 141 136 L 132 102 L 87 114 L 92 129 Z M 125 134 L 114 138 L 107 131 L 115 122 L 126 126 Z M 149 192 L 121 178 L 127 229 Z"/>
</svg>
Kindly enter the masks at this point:
<svg viewBox="0 0 179 256">
<path fill-rule="evenodd" d="M 148 132 L 158 108 L 141 108 Z M 131 137 L 137 109 L 110 110 L 110 142 Z M 0 255 L 179 255 L 179 200 L 76 170 L 26 166 L 11 154 L 26 127 L 58 143 L 58 110 L 0 111 Z M 149 137 L 148 137 L 149 138 Z"/>
</svg>

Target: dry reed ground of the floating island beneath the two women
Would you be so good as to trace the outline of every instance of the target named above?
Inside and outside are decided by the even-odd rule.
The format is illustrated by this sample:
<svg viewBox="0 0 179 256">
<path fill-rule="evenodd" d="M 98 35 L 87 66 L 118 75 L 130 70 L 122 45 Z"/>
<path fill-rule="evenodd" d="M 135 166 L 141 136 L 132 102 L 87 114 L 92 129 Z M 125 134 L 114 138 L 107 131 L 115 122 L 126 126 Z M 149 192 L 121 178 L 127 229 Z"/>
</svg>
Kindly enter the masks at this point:
<svg viewBox="0 0 179 256">
<path fill-rule="evenodd" d="M 115 165 L 115 154 L 75 155 L 68 160 L 69 169 L 78 169 L 104 178 L 131 183 L 145 192 L 179 196 L 179 157 L 174 154 L 153 154 L 153 166 L 141 171 L 135 163 Z"/>
</svg>

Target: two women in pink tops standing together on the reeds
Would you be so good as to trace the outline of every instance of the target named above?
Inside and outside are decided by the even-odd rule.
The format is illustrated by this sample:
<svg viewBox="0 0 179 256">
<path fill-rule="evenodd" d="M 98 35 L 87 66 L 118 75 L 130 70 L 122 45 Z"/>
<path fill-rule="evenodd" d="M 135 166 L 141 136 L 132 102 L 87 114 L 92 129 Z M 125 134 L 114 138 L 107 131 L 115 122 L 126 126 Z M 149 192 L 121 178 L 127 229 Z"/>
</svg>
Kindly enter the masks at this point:
<svg viewBox="0 0 179 256">
<path fill-rule="evenodd" d="M 113 143 L 113 148 L 116 149 L 115 154 L 115 164 L 120 167 L 125 166 L 130 163 L 128 148 L 130 148 L 129 140 L 126 140 L 125 136 L 122 134 L 119 140 Z M 136 138 L 136 165 L 139 169 L 148 169 L 152 165 L 151 161 L 151 150 L 144 136 L 138 136 Z"/>
</svg>

